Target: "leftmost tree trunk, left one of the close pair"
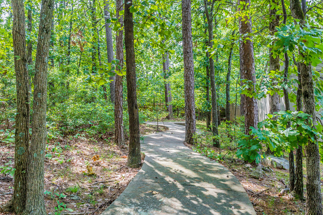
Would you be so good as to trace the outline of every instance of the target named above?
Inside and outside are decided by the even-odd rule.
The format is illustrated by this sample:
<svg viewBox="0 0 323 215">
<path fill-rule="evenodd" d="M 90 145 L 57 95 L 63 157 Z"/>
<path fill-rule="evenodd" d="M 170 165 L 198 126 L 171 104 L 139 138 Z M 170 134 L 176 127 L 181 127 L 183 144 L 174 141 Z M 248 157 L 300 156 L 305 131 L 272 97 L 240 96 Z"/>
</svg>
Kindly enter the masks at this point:
<svg viewBox="0 0 323 215">
<path fill-rule="evenodd" d="M 17 114 L 15 116 L 14 147 L 14 190 L 11 202 L 1 211 L 20 214 L 25 208 L 27 192 L 27 167 L 29 148 L 29 75 L 26 68 L 27 50 L 25 34 L 25 11 L 23 0 L 12 0 L 13 26 L 12 39 L 14 50 L 14 69 L 17 88 Z M 12 204 L 12 205 L 11 205 Z"/>
</svg>

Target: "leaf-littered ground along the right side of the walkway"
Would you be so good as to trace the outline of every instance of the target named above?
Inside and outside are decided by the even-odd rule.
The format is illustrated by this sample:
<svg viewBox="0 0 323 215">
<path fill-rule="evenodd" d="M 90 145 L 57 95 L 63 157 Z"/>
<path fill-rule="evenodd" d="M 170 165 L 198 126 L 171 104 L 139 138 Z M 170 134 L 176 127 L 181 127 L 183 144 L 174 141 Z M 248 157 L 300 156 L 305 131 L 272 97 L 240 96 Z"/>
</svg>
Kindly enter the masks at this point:
<svg viewBox="0 0 323 215">
<path fill-rule="evenodd" d="M 205 122 L 197 122 L 198 129 L 202 130 L 204 127 Z M 206 132 L 205 129 L 203 129 L 203 132 Z M 187 146 L 190 148 L 194 147 L 194 145 Z M 213 147 L 212 145 L 208 145 L 208 147 L 210 151 L 214 150 L 215 153 L 222 154 L 222 157 L 224 154 L 227 154 L 224 159 L 218 159 L 218 161 L 227 167 L 238 178 L 244 190 L 247 192 L 257 215 L 305 215 L 305 201 L 296 200 L 291 194 L 289 194 L 288 191 L 283 195 L 280 194 L 280 192 L 285 189 L 286 186 L 288 186 L 288 170 L 270 167 L 272 171 L 263 172 L 263 177 L 260 179 L 254 179 L 249 175 L 251 171 L 255 169 L 255 167 L 248 165 L 243 160 L 237 158 L 235 155 L 236 149 L 234 149 L 235 145 L 226 145 L 225 147 L 222 147 L 221 150 Z M 217 160 L 217 158 L 213 159 Z M 322 170 L 323 164 L 320 163 L 320 165 Z M 303 160 L 303 174 L 304 195 L 306 197 L 305 158 Z M 321 171 L 321 183 L 323 183 L 323 171 Z"/>
</svg>

